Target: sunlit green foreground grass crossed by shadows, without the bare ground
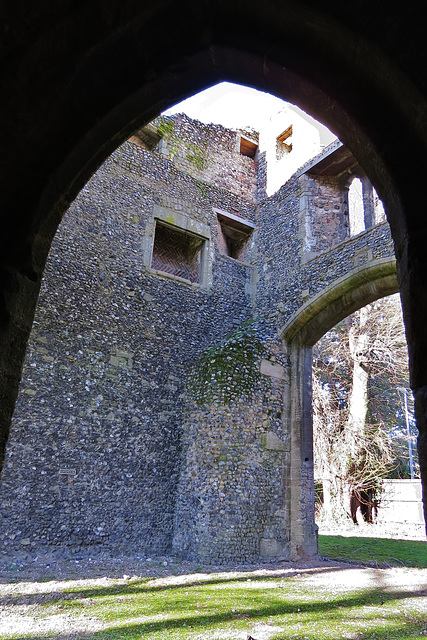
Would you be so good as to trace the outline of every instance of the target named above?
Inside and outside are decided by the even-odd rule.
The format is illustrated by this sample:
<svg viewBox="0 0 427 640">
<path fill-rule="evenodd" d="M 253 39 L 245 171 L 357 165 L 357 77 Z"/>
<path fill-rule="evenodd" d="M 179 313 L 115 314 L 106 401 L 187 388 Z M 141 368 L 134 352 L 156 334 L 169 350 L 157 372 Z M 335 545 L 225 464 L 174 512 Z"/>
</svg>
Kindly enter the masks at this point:
<svg viewBox="0 0 427 640">
<path fill-rule="evenodd" d="M 41 616 L 58 608 L 107 628 L 85 635 L 96 640 L 263 637 L 330 640 L 421 638 L 427 633 L 425 607 L 416 594 L 381 587 L 337 589 L 301 578 L 216 578 L 185 585 L 153 586 L 146 580 L 57 593 Z M 27 596 L 28 598 L 28 596 Z M 16 636 L 33 638 L 34 636 Z M 44 636 L 47 637 L 47 636 Z M 58 637 L 57 635 L 55 637 Z M 81 636 L 75 636 L 81 637 Z"/>
</svg>

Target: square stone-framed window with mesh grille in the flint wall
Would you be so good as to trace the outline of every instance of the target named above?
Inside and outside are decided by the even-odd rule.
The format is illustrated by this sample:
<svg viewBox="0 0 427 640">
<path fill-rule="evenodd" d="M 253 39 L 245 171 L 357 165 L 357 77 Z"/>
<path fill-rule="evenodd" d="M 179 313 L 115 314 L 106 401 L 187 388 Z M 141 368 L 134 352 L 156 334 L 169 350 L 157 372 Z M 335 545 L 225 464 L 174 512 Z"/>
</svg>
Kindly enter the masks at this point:
<svg viewBox="0 0 427 640">
<path fill-rule="evenodd" d="M 151 268 L 202 284 L 205 239 L 156 220 Z"/>
</svg>

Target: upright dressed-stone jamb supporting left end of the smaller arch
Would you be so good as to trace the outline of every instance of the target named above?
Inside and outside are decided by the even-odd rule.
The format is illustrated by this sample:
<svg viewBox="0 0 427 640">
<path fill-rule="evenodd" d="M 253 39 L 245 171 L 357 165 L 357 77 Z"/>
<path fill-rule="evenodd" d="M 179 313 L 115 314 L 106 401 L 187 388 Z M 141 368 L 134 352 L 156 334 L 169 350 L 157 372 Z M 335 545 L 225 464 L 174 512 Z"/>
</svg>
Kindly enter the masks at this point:
<svg viewBox="0 0 427 640">
<path fill-rule="evenodd" d="M 289 476 L 291 560 L 317 555 L 314 522 L 313 419 L 311 348 L 288 345 L 290 387 L 288 419 L 291 434 Z M 286 401 L 286 400 L 285 400 Z"/>
</svg>

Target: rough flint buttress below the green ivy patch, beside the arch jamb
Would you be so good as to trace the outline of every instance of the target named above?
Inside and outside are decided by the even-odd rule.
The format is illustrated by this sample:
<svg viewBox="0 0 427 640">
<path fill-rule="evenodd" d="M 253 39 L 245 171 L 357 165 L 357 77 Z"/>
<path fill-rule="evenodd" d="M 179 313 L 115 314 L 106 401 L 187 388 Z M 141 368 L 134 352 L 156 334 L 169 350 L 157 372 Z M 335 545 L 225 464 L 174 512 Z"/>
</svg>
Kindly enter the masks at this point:
<svg viewBox="0 0 427 640">
<path fill-rule="evenodd" d="M 172 545 L 181 557 L 289 560 L 281 493 L 289 453 L 286 439 L 268 429 L 264 395 L 260 387 L 252 401 L 188 404 Z"/>
</svg>

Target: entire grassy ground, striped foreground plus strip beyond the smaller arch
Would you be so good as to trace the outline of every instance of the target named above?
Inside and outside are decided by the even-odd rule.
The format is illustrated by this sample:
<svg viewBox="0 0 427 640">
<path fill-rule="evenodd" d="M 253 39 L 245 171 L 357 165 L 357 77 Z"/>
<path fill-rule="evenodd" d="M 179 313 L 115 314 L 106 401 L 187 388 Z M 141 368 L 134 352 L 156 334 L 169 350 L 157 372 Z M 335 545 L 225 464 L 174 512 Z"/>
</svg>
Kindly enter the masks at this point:
<svg viewBox="0 0 427 640">
<path fill-rule="evenodd" d="M 322 536 L 320 552 L 386 565 L 394 560 L 399 568 L 284 563 L 254 571 L 3 584 L 0 638 L 425 639 L 427 571 L 416 567 L 426 566 L 427 546 L 392 542 Z"/>
</svg>

